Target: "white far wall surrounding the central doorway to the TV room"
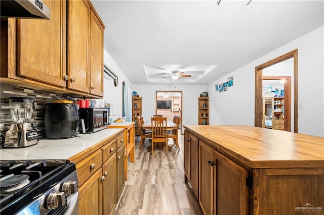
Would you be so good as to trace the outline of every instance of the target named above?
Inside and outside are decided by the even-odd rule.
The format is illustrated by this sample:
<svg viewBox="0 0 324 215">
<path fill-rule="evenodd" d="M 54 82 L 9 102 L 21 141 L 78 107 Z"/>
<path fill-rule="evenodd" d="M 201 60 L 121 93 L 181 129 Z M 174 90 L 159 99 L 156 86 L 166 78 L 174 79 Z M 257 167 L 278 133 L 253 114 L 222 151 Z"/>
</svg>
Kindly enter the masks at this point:
<svg viewBox="0 0 324 215">
<path fill-rule="evenodd" d="M 133 90 L 138 92 L 142 99 L 142 115 L 145 121 L 151 119 L 155 114 L 155 91 L 182 91 L 182 124 L 197 125 L 198 123 L 198 97 L 201 92 L 206 91 L 206 85 L 158 85 L 134 84 Z"/>
</svg>

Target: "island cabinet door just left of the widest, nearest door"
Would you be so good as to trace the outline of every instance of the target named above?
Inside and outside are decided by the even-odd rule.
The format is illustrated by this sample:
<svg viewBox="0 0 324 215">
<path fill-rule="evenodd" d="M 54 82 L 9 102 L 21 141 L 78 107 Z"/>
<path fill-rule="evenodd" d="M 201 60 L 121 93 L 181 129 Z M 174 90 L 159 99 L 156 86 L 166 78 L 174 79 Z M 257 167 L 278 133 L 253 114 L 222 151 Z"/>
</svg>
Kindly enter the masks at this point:
<svg viewBox="0 0 324 215">
<path fill-rule="evenodd" d="M 199 140 L 199 204 L 205 214 L 213 214 L 214 164 L 214 150 Z"/>
</svg>

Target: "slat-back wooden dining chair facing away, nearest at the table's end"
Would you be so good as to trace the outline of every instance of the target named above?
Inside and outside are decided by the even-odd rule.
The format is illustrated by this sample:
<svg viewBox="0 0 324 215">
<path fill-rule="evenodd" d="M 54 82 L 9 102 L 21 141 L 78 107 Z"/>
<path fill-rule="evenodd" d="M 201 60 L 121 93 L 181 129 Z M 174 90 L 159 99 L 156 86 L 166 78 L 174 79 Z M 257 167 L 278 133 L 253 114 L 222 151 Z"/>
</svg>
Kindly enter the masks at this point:
<svg viewBox="0 0 324 215">
<path fill-rule="evenodd" d="M 168 132 L 167 132 L 167 118 L 165 117 L 152 117 L 152 155 L 156 142 L 165 143 L 166 155 L 168 155 Z"/>
</svg>

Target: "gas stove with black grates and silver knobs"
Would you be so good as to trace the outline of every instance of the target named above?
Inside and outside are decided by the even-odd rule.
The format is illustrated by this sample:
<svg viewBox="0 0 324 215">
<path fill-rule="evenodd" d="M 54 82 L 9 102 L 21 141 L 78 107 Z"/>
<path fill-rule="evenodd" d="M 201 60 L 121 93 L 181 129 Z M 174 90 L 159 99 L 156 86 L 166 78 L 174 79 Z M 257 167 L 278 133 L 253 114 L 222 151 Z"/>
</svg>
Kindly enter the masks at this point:
<svg viewBox="0 0 324 215">
<path fill-rule="evenodd" d="M 0 214 L 78 213 L 74 164 L 11 160 L 0 174 Z"/>
</svg>

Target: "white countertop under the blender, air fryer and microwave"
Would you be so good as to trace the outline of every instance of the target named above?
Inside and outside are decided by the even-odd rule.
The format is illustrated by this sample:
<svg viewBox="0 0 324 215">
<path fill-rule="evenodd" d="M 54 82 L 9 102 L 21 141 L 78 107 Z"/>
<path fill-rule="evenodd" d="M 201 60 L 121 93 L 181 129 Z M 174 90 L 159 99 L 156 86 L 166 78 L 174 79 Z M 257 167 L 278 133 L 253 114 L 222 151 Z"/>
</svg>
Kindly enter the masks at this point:
<svg viewBox="0 0 324 215">
<path fill-rule="evenodd" d="M 44 138 L 33 146 L 4 148 L 0 149 L 0 160 L 67 160 L 120 130 L 124 129 L 108 128 L 93 134 L 79 134 L 68 139 Z"/>
</svg>

